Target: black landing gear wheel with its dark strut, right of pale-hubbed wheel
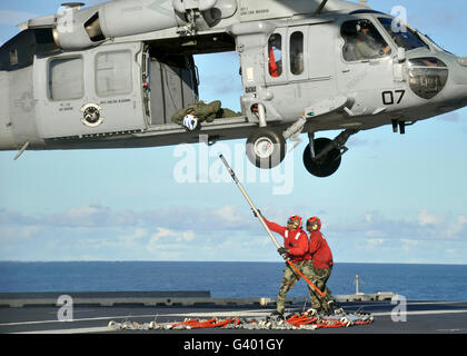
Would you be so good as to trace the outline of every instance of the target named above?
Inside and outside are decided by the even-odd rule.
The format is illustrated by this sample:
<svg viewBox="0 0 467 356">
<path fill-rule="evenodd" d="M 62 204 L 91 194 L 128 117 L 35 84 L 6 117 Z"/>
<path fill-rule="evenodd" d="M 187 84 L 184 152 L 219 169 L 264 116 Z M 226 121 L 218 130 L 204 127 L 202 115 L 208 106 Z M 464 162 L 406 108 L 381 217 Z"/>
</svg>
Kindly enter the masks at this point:
<svg viewBox="0 0 467 356">
<path fill-rule="evenodd" d="M 357 134 L 357 130 L 345 130 L 334 140 L 329 138 L 314 138 L 309 134 L 310 144 L 304 151 L 305 168 L 316 177 L 329 177 L 340 166 L 342 155 L 348 150 L 345 146 L 349 137 Z"/>
</svg>

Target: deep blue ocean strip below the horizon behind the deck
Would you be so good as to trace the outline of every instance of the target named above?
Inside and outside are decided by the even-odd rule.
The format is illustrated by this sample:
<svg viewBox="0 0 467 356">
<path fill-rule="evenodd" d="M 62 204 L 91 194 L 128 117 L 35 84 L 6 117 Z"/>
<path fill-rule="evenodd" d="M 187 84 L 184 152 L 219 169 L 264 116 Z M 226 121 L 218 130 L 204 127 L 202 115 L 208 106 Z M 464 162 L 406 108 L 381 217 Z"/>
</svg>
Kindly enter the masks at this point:
<svg viewBox="0 0 467 356">
<path fill-rule="evenodd" d="M 209 290 L 213 298 L 276 297 L 284 263 L 0 261 L 0 293 Z M 467 265 L 336 264 L 334 295 L 394 291 L 409 300 L 467 300 Z M 300 280 L 289 296 L 307 296 Z"/>
</svg>

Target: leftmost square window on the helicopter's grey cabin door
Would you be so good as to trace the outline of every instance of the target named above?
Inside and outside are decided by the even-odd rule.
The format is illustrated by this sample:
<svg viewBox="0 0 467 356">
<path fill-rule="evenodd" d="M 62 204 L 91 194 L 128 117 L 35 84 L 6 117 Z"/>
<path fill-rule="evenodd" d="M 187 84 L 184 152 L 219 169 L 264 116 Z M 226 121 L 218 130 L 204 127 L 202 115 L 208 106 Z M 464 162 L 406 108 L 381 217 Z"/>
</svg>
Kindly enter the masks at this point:
<svg viewBox="0 0 467 356">
<path fill-rule="evenodd" d="M 57 58 L 49 62 L 49 98 L 71 100 L 83 96 L 82 58 Z"/>
</svg>

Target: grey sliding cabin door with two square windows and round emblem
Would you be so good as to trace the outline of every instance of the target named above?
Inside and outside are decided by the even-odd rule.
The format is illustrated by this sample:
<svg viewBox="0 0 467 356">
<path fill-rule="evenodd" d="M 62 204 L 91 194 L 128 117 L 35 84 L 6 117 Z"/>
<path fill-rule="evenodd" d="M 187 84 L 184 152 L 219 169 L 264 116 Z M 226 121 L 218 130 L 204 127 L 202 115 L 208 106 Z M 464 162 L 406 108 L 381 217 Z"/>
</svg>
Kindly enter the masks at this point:
<svg viewBox="0 0 467 356">
<path fill-rule="evenodd" d="M 43 138 L 146 129 L 141 47 L 121 43 L 36 58 L 36 110 Z"/>
</svg>

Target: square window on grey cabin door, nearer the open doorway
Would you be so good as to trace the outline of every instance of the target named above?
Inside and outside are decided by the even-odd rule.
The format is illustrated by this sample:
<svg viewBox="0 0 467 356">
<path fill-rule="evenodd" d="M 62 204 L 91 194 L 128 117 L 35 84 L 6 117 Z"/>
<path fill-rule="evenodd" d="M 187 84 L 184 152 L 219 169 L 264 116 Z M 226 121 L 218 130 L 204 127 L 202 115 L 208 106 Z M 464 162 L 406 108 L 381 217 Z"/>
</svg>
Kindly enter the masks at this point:
<svg viewBox="0 0 467 356">
<path fill-rule="evenodd" d="M 103 52 L 96 57 L 96 89 L 101 97 L 129 93 L 132 59 L 128 51 Z"/>
</svg>

